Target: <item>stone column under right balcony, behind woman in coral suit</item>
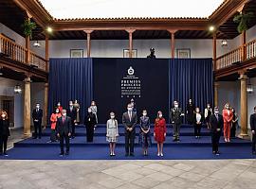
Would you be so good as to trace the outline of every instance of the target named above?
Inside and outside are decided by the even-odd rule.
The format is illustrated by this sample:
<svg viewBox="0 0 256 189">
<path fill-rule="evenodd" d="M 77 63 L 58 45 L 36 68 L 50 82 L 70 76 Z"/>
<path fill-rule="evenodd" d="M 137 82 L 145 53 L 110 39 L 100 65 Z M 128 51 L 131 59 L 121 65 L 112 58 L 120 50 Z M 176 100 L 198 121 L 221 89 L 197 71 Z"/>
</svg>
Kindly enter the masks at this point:
<svg viewBox="0 0 256 189">
<path fill-rule="evenodd" d="M 247 136 L 247 75 L 245 73 L 240 74 L 241 85 L 241 133 L 240 137 L 245 138 Z"/>
</svg>

